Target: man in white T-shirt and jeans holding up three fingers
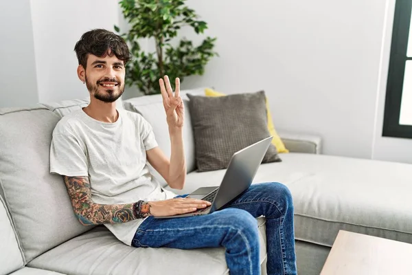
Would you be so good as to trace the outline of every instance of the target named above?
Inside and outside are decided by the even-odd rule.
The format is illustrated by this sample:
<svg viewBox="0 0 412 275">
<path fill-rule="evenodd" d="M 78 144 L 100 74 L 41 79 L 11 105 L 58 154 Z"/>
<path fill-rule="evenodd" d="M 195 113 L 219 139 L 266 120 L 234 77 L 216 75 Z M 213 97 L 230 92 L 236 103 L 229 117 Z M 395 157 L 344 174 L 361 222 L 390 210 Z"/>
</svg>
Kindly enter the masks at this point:
<svg viewBox="0 0 412 275">
<path fill-rule="evenodd" d="M 131 58 L 124 40 L 113 32 L 91 30 L 82 35 L 75 50 L 78 78 L 89 90 L 90 104 L 65 115 L 56 125 L 50 171 L 64 177 L 80 223 L 104 224 L 117 239 L 137 248 L 223 246 L 231 274 L 260 274 L 255 217 L 264 215 L 268 274 L 297 274 L 293 202 L 282 184 L 253 184 L 236 201 L 212 214 L 153 218 L 210 205 L 164 190 L 146 164 L 159 171 L 171 188 L 183 188 L 184 107 L 179 78 L 174 93 L 168 76 L 159 80 L 172 149 L 168 159 L 141 115 L 115 107 Z"/>
</svg>

